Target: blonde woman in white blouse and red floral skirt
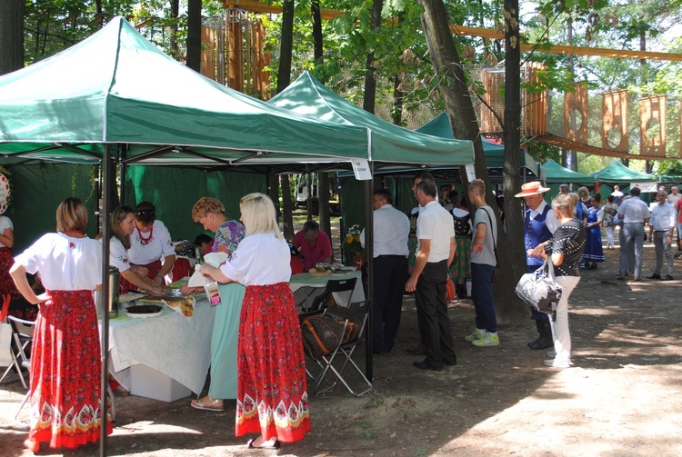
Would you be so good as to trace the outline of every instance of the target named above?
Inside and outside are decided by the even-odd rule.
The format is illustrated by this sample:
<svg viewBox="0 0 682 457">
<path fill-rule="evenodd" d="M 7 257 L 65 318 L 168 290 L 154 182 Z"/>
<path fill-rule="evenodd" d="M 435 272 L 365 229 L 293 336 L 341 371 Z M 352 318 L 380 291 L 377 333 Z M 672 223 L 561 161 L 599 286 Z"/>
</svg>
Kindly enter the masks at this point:
<svg viewBox="0 0 682 457">
<path fill-rule="evenodd" d="M 296 313 L 290 251 L 265 194 L 240 203 L 246 237 L 232 260 L 201 272 L 219 283 L 242 283 L 246 295 L 237 348 L 236 436 L 260 433 L 249 448 L 278 449 L 310 430 L 306 361 Z"/>
</svg>

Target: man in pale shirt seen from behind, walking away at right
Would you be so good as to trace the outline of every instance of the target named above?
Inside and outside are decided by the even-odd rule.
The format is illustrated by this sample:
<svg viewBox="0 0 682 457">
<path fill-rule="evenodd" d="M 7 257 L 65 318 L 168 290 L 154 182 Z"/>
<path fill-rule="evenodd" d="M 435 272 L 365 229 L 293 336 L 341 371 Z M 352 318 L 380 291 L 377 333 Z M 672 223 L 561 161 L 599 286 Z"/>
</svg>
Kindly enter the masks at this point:
<svg viewBox="0 0 682 457">
<path fill-rule="evenodd" d="M 620 243 L 620 274 L 618 279 L 624 279 L 627 273 L 628 252 L 635 251 L 635 278 L 642 281 L 642 258 L 644 245 L 644 224 L 651 214 L 646 203 L 639 198 L 639 187 L 630 190 L 631 197 L 618 206 L 618 219 L 623 220 L 623 237 Z"/>
</svg>

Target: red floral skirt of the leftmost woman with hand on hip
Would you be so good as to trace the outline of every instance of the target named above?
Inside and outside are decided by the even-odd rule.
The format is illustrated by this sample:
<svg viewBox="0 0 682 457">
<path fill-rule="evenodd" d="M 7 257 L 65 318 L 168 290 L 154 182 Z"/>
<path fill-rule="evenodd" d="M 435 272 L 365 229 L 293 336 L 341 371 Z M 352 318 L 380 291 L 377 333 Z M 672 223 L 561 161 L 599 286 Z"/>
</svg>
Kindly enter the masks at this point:
<svg viewBox="0 0 682 457">
<path fill-rule="evenodd" d="M 75 449 L 100 435 L 102 362 L 92 291 L 49 291 L 31 349 L 31 442 Z M 106 433 L 111 434 L 108 412 Z"/>
</svg>

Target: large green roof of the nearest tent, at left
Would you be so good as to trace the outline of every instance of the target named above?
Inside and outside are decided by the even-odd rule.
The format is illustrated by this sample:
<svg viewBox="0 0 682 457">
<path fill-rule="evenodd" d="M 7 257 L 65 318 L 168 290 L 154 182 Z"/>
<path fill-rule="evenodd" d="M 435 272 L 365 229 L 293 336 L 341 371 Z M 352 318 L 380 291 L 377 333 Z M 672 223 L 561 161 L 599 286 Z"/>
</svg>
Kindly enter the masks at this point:
<svg viewBox="0 0 682 457">
<path fill-rule="evenodd" d="M 124 18 L 0 77 L 0 154 L 140 164 L 304 164 L 369 158 L 367 129 L 228 89 L 165 55 Z"/>
</svg>

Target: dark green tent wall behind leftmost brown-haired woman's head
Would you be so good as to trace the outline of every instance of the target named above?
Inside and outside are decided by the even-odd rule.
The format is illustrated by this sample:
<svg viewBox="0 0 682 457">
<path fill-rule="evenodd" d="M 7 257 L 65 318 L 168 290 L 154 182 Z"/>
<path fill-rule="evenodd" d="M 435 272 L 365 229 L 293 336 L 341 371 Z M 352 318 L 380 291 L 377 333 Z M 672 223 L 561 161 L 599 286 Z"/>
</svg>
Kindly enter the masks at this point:
<svg viewBox="0 0 682 457">
<path fill-rule="evenodd" d="M 43 234 L 55 232 L 56 208 L 68 197 L 83 200 L 89 216 L 87 233 L 95 236 L 98 202 L 94 166 L 39 163 L 5 168 L 11 173 L 12 203 L 4 215 L 15 226 L 13 253 L 21 253 Z"/>
</svg>

